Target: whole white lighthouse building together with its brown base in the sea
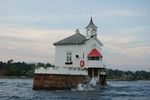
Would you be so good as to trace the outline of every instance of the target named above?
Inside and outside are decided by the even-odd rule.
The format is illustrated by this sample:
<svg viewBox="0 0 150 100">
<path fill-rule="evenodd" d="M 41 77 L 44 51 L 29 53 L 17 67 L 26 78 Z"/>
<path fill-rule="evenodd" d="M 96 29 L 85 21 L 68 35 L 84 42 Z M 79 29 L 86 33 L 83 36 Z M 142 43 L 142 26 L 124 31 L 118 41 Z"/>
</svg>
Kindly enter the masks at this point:
<svg viewBox="0 0 150 100">
<path fill-rule="evenodd" d="M 85 36 L 77 29 L 74 35 L 54 43 L 55 67 L 35 69 L 34 89 L 70 89 L 95 77 L 106 85 L 103 44 L 92 17 L 85 29 Z"/>
</svg>

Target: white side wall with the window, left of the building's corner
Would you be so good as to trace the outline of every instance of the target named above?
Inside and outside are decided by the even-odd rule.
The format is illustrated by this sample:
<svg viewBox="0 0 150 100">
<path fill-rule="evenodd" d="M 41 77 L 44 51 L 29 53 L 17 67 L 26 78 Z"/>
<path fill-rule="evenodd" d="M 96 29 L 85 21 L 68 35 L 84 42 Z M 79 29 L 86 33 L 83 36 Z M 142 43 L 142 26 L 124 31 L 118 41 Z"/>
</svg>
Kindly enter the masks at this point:
<svg viewBox="0 0 150 100">
<path fill-rule="evenodd" d="M 59 67 L 80 67 L 80 60 L 83 57 L 83 45 L 59 45 L 55 48 L 55 65 Z M 72 53 L 73 64 L 68 65 L 66 62 L 66 53 Z M 79 58 L 76 58 L 79 55 Z"/>
</svg>

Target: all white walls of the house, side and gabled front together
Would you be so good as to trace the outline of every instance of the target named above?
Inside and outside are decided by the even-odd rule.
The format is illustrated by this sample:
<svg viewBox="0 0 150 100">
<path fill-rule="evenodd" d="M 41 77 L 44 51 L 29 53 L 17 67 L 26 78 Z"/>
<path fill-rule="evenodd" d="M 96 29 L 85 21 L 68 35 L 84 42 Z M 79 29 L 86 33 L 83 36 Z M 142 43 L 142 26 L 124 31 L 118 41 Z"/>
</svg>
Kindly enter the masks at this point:
<svg viewBox="0 0 150 100">
<path fill-rule="evenodd" d="M 80 61 L 83 59 L 83 53 L 84 53 L 84 61 L 85 61 L 85 67 L 103 67 L 103 63 L 100 60 L 88 60 L 87 56 L 91 52 L 93 48 L 96 48 L 98 51 L 101 52 L 102 48 L 101 45 L 97 42 L 96 39 L 88 40 L 83 45 L 59 45 L 56 46 L 55 50 L 55 65 L 58 67 L 80 67 Z M 65 64 L 66 62 L 66 53 L 71 52 L 72 53 L 72 62 L 73 64 L 68 65 Z M 76 58 L 76 55 L 79 55 L 79 58 Z"/>
</svg>

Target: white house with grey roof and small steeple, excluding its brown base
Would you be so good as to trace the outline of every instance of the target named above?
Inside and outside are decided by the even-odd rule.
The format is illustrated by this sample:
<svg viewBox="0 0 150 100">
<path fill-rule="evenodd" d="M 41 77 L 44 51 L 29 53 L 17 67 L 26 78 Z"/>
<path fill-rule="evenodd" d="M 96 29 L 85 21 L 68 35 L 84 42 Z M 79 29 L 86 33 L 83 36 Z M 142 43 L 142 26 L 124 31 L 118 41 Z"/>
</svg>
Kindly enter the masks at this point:
<svg viewBox="0 0 150 100">
<path fill-rule="evenodd" d="M 85 29 L 86 36 L 77 29 L 74 35 L 54 43 L 55 65 L 93 69 L 93 75 L 94 72 L 99 75 L 99 70 L 96 69 L 104 68 L 101 53 L 103 44 L 97 38 L 97 26 L 92 18 Z"/>
</svg>

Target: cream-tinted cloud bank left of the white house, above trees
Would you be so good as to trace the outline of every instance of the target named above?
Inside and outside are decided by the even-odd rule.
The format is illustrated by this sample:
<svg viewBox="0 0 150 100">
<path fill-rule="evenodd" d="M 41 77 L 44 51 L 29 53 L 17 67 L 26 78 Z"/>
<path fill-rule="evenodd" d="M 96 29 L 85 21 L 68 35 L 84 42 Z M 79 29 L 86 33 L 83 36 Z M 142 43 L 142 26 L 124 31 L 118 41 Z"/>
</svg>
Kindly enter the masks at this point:
<svg viewBox="0 0 150 100">
<path fill-rule="evenodd" d="M 18 61 L 54 63 L 55 48 L 53 43 L 73 33 L 71 30 L 43 31 L 1 27 L 1 60 L 16 59 Z"/>
</svg>

